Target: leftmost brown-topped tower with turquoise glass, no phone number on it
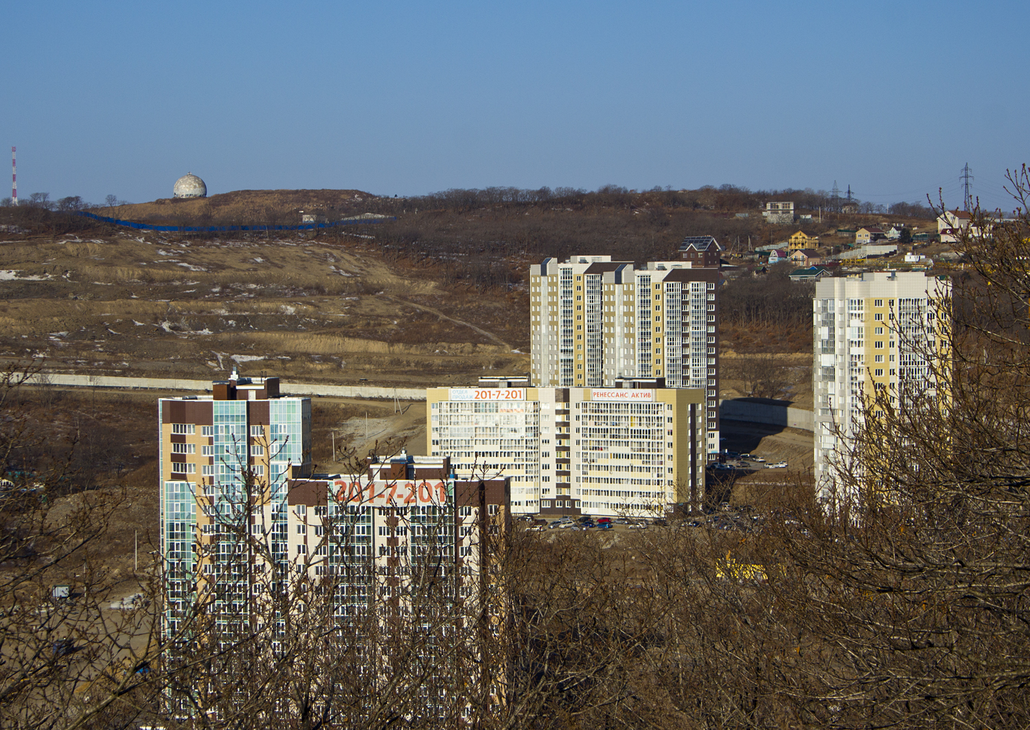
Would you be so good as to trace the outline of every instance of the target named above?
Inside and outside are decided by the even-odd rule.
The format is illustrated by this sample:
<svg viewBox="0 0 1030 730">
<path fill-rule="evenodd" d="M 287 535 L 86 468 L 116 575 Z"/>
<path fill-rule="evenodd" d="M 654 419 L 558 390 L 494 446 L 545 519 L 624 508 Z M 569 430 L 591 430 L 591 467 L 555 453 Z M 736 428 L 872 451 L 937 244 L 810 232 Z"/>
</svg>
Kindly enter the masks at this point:
<svg viewBox="0 0 1030 730">
<path fill-rule="evenodd" d="M 158 422 L 165 618 L 174 634 L 198 586 L 203 591 L 214 576 L 234 580 L 231 589 L 211 594 L 212 611 L 245 615 L 250 573 L 245 561 L 234 559 L 246 553 L 219 550 L 227 526 L 254 505 L 269 521 L 272 559 L 288 560 L 288 484 L 310 471 L 311 399 L 281 396 L 278 378 L 242 378 L 234 371 L 230 380 L 212 383 L 210 395 L 159 399 Z"/>
</svg>

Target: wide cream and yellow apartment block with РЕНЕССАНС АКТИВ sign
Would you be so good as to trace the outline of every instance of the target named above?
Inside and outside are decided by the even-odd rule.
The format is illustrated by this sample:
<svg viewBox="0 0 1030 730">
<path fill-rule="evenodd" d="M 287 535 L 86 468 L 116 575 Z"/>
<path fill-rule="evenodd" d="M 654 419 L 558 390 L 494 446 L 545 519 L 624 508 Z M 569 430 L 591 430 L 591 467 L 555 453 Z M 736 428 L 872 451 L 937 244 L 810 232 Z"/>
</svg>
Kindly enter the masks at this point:
<svg viewBox="0 0 1030 730">
<path fill-rule="evenodd" d="M 509 477 L 515 514 L 660 516 L 676 503 L 696 507 L 705 391 L 661 385 L 430 388 L 430 453 L 448 454 L 464 479 Z"/>
</svg>

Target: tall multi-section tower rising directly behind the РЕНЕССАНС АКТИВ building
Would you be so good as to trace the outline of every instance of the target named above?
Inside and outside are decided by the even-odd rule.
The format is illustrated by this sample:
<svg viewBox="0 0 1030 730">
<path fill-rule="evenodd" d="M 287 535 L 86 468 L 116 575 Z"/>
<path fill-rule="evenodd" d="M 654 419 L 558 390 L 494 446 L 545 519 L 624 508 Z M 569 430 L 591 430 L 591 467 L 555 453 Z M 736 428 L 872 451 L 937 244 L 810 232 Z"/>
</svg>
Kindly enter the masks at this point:
<svg viewBox="0 0 1030 730">
<path fill-rule="evenodd" d="M 684 241 L 683 260 L 641 268 L 611 256 L 530 267 L 531 380 L 604 388 L 660 378 L 705 393 L 708 453 L 719 451 L 719 246 Z"/>
</svg>

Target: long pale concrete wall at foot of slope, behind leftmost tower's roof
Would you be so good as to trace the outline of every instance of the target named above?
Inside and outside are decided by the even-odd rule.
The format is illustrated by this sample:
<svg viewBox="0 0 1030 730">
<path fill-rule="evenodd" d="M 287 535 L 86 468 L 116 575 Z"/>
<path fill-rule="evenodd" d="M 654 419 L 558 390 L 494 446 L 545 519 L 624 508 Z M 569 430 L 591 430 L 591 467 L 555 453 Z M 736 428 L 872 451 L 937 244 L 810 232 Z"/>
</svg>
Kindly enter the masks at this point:
<svg viewBox="0 0 1030 730">
<path fill-rule="evenodd" d="M 330 395 L 334 397 L 393 398 L 424 401 L 422 388 L 381 388 L 373 385 L 320 385 L 281 382 L 284 395 Z M 29 384 L 72 385 L 87 388 L 137 388 L 147 390 L 192 390 L 210 392 L 210 380 L 178 378 L 130 378 L 117 375 L 61 375 L 46 373 L 33 376 Z"/>
</svg>

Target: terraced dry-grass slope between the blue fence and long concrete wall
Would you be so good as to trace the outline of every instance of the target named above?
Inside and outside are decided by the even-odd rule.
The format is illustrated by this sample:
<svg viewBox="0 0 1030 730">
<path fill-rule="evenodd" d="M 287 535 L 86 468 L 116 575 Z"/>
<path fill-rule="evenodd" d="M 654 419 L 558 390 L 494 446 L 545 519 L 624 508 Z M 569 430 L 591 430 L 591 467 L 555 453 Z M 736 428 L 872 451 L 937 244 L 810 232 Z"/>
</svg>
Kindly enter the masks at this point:
<svg viewBox="0 0 1030 730">
<path fill-rule="evenodd" d="M 470 297 L 362 239 L 20 238 L 0 242 L 0 357 L 416 386 L 528 367 L 519 288 Z"/>
</svg>

